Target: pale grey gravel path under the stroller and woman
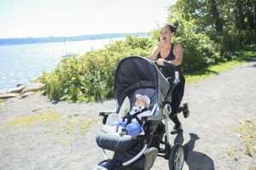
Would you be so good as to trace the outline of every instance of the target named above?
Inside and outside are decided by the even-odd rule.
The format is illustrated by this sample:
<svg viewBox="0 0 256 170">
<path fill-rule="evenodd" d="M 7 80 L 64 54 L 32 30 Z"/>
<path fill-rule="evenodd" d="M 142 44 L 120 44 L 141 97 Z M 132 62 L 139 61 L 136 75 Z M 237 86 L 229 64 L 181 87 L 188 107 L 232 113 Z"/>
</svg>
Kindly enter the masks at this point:
<svg viewBox="0 0 256 170">
<path fill-rule="evenodd" d="M 241 120 L 256 120 L 256 60 L 236 66 L 210 79 L 188 84 L 183 100 L 190 116 L 178 116 L 183 133 L 171 135 L 183 144 L 187 170 L 249 170 L 255 154 L 244 154 L 245 144 L 236 129 Z M 103 160 L 95 135 L 102 127 L 99 111 L 113 111 L 114 100 L 70 104 L 53 103 L 42 93 L 0 103 L 0 169 L 93 169 Z M 32 122 L 7 127 L 19 118 L 58 111 L 61 121 Z M 44 118 L 44 117 L 43 117 Z M 85 128 L 85 122 L 93 126 Z M 170 130 L 173 126 L 169 122 Z M 256 146 L 255 146 L 256 147 Z M 153 170 L 167 170 L 157 157 Z"/>
</svg>

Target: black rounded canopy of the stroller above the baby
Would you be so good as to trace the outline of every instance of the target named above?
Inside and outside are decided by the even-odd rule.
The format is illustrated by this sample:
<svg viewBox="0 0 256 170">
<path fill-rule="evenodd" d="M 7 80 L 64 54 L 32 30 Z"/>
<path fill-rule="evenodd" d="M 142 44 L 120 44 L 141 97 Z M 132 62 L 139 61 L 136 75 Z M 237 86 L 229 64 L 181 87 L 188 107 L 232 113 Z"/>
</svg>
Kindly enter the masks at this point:
<svg viewBox="0 0 256 170">
<path fill-rule="evenodd" d="M 168 91 L 170 84 L 160 73 L 154 62 L 139 56 L 131 56 L 122 59 L 117 66 L 113 92 L 118 104 L 121 104 L 125 96 L 138 88 L 154 88 L 158 98 L 160 87 L 166 88 L 161 91 Z"/>
</svg>

